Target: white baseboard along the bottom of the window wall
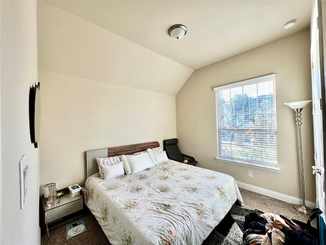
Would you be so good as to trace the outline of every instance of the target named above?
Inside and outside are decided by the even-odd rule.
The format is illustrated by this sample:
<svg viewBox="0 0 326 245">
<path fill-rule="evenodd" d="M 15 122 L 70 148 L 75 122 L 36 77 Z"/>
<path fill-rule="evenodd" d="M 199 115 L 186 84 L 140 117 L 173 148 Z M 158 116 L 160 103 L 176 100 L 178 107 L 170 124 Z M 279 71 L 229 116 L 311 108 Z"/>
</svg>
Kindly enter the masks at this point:
<svg viewBox="0 0 326 245">
<path fill-rule="evenodd" d="M 282 194 L 280 192 L 276 192 L 276 191 L 273 191 L 273 190 L 264 189 L 264 188 L 254 186 L 254 185 L 250 185 L 250 184 L 247 184 L 247 183 L 243 183 L 243 182 L 240 182 L 240 181 L 236 181 L 236 183 L 237 183 L 239 188 L 250 190 L 250 191 L 262 194 L 262 195 L 267 195 L 267 197 L 275 198 L 275 199 L 281 200 L 283 202 L 291 203 L 291 204 L 294 204 L 294 205 L 302 204 L 302 199 L 300 199 L 300 198 L 291 197 L 290 195 Z M 313 203 L 313 202 L 310 202 L 310 201 L 306 201 L 306 207 L 310 208 L 310 209 L 313 209 L 313 208 L 316 207 L 316 204 Z"/>
</svg>

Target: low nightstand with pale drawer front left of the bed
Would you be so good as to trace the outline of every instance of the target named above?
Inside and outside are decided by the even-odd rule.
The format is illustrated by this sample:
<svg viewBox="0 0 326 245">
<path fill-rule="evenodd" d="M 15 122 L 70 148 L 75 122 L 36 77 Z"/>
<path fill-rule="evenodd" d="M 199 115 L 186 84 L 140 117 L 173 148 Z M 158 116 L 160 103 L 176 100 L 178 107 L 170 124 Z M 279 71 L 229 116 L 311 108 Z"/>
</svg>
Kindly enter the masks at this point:
<svg viewBox="0 0 326 245">
<path fill-rule="evenodd" d="M 43 234 L 47 227 L 48 230 L 52 230 L 84 215 L 84 195 L 70 198 L 68 188 L 57 192 L 61 191 L 65 194 L 60 197 L 60 203 L 54 206 L 45 206 L 44 195 L 40 199 L 40 226 Z"/>
</svg>

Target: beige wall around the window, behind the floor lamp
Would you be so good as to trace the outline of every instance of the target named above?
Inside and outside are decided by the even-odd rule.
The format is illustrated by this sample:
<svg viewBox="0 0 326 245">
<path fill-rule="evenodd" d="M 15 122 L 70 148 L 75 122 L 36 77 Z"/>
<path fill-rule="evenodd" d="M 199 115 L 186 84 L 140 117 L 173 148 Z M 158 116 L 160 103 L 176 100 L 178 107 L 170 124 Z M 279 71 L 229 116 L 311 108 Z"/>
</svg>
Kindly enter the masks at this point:
<svg viewBox="0 0 326 245">
<path fill-rule="evenodd" d="M 237 181 L 301 198 L 295 113 L 285 102 L 311 99 L 310 33 L 302 31 L 196 70 L 176 96 L 177 136 L 181 150 L 199 166 Z M 276 73 L 279 173 L 218 162 L 214 87 Z M 315 202 L 312 106 L 303 109 L 303 159 L 306 200 Z M 248 177 L 253 171 L 253 178 Z"/>
</svg>

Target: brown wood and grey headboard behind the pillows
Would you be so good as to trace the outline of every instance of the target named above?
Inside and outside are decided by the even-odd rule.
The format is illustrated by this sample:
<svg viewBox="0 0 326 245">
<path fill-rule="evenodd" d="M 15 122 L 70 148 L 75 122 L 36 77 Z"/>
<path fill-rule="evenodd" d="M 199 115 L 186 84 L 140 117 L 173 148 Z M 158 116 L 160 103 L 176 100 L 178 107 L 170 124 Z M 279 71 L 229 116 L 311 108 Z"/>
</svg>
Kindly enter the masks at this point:
<svg viewBox="0 0 326 245">
<path fill-rule="evenodd" d="M 87 178 L 98 172 L 98 166 L 96 162 L 97 157 L 113 157 L 119 155 L 131 155 L 135 152 L 146 151 L 148 148 L 158 147 L 157 141 L 129 144 L 116 146 L 111 148 L 104 148 L 98 150 L 92 150 L 86 152 L 86 174 Z"/>
</svg>

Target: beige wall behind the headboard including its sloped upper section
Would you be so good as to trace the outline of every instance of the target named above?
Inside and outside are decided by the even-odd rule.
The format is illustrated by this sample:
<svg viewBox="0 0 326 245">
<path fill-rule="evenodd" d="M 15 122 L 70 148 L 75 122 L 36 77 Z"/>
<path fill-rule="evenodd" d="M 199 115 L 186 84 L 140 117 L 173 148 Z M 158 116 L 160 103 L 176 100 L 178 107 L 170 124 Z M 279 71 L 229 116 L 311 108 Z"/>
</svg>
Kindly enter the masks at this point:
<svg viewBox="0 0 326 245">
<path fill-rule="evenodd" d="M 40 190 L 84 184 L 84 153 L 176 137 L 175 94 L 192 69 L 38 2 Z"/>
</svg>

